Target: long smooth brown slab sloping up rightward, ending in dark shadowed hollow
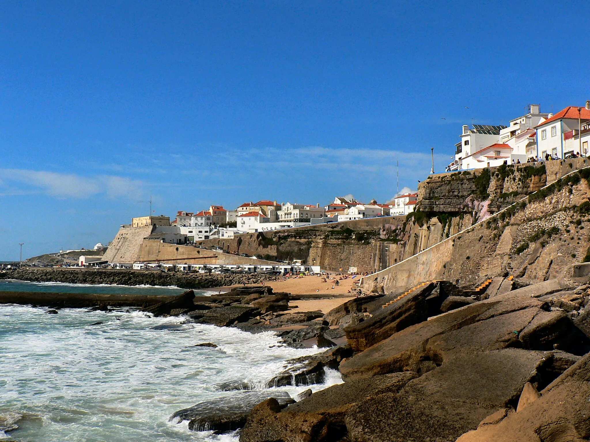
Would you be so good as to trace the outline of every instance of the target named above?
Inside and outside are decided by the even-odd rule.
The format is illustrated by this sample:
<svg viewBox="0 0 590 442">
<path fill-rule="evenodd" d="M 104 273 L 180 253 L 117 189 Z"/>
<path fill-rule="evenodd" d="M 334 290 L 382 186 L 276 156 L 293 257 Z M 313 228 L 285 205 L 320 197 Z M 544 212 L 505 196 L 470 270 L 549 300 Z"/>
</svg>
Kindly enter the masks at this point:
<svg viewBox="0 0 590 442">
<path fill-rule="evenodd" d="M 394 371 L 425 372 L 454 354 L 522 347 L 559 348 L 583 355 L 590 339 L 563 311 L 509 292 L 431 318 L 397 332 L 340 364 L 345 380 Z M 350 340 L 349 340 L 350 341 Z"/>
</svg>

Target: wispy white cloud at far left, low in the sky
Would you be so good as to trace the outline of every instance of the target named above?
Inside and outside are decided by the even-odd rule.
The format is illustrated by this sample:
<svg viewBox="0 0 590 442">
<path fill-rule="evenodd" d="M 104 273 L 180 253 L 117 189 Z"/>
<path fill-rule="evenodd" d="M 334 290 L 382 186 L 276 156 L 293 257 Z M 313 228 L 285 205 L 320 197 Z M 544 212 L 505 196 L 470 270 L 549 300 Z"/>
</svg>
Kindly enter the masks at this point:
<svg viewBox="0 0 590 442">
<path fill-rule="evenodd" d="M 125 177 L 110 175 L 84 177 L 43 170 L 0 169 L 0 179 L 13 186 L 20 184 L 18 191 L 22 193 L 42 192 L 58 198 L 88 198 L 99 193 L 106 193 L 110 198 L 136 196 L 142 188 L 142 182 L 139 180 L 130 180 Z"/>
</svg>

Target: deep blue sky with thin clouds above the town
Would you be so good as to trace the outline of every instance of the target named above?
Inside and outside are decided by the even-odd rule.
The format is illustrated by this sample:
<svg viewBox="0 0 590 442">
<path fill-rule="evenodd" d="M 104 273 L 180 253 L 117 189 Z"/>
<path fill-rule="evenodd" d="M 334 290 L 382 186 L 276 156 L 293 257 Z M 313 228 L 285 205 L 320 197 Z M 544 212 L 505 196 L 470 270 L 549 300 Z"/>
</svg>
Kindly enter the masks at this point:
<svg viewBox="0 0 590 442">
<path fill-rule="evenodd" d="M 461 124 L 590 99 L 588 2 L 4 2 L 0 260 L 132 216 L 383 202 Z M 442 120 L 442 118 L 446 118 Z"/>
</svg>

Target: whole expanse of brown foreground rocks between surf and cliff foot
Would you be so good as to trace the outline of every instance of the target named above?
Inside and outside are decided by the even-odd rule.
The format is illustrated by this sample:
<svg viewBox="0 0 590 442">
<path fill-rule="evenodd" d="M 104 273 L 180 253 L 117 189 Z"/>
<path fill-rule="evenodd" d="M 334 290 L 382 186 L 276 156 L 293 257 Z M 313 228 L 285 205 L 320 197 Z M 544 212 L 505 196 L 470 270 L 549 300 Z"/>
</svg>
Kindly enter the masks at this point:
<svg viewBox="0 0 590 442">
<path fill-rule="evenodd" d="M 201 306 L 188 315 L 242 329 L 303 325 L 285 332 L 286 342 L 345 334 L 340 345 L 289 361 L 268 386 L 321 382 L 324 368 L 345 382 L 294 402 L 282 392 L 243 395 L 239 413 L 223 400 L 213 411 L 196 404 L 174 418 L 195 430 L 242 427 L 241 442 L 588 440 L 590 286 L 496 279 L 477 290 L 441 281 L 405 296 L 366 294 L 297 320 L 281 311 L 282 293 Z M 219 320 L 224 309 L 233 316 Z"/>
</svg>

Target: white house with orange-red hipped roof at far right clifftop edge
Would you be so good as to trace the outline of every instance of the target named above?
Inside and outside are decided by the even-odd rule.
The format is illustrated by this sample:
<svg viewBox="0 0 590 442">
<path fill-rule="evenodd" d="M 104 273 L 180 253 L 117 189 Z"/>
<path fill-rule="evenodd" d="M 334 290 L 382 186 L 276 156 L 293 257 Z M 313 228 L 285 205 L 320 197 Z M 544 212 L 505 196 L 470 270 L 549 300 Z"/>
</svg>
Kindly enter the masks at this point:
<svg viewBox="0 0 590 442">
<path fill-rule="evenodd" d="M 580 153 L 584 154 L 584 146 L 580 146 L 582 140 L 579 138 L 579 133 L 582 123 L 586 120 L 590 120 L 590 101 L 586 101 L 586 107 L 568 106 L 536 126 L 537 156 L 539 156 L 539 159 L 544 160 L 547 155 L 563 159 L 572 153 L 579 152 L 580 147 L 582 147 Z M 566 146 L 566 133 L 571 133 L 571 138 L 578 134 L 576 137 L 576 140 L 578 140 L 577 148 L 575 143 L 568 143 Z M 568 140 L 571 138 L 568 137 Z"/>
</svg>

